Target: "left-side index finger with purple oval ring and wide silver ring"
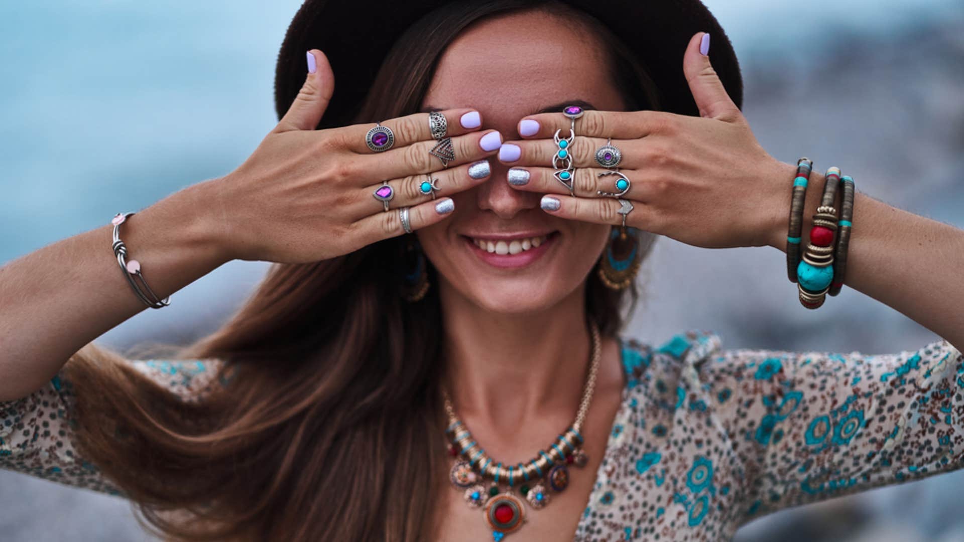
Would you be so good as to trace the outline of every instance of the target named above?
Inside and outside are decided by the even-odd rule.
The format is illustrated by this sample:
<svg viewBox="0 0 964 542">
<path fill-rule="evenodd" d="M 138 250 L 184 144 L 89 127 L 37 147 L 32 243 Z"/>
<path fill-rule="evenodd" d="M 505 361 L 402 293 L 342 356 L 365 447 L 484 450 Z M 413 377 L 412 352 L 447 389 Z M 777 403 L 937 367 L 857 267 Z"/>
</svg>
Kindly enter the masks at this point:
<svg viewBox="0 0 964 542">
<path fill-rule="evenodd" d="M 469 107 L 446 109 L 439 111 L 439 113 L 445 116 L 445 137 L 469 133 L 482 126 L 481 114 Z M 389 119 L 381 122 L 381 124 L 391 130 L 393 141 L 388 149 L 407 147 L 420 141 L 432 141 L 434 145 L 435 140 L 432 137 L 428 113 L 414 113 L 405 117 Z M 374 127 L 374 123 L 345 126 L 339 128 L 339 132 L 341 132 L 339 135 L 344 138 L 343 141 L 347 149 L 360 154 L 372 154 L 376 151 L 368 147 L 366 137 L 369 130 Z"/>
</svg>

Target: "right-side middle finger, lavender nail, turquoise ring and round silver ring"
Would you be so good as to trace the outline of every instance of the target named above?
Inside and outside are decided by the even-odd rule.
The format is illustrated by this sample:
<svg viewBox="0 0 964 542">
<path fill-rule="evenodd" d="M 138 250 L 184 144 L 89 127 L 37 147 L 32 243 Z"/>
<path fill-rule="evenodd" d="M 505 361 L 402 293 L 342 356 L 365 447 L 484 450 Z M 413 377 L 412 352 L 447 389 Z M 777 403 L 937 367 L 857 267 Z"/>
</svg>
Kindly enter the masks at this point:
<svg viewBox="0 0 964 542">
<path fill-rule="evenodd" d="M 568 128 L 564 131 L 568 132 Z M 560 134 L 560 137 L 565 137 L 565 134 Z M 505 142 L 498 150 L 498 161 L 507 166 L 541 166 L 554 169 L 553 159 L 558 156 L 560 160 L 571 157 L 574 168 L 592 168 L 600 165 L 596 160 L 596 151 L 606 145 L 606 141 L 605 138 L 576 136 L 566 149 L 560 149 L 551 135 L 549 139 Z M 622 154 L 618 167 L 635 169 L 642 165 L 642 153 L 638 149 L 644 143 L 645 140 L 612 140 L 608 145 L 619 149 Z"/>
</svg>

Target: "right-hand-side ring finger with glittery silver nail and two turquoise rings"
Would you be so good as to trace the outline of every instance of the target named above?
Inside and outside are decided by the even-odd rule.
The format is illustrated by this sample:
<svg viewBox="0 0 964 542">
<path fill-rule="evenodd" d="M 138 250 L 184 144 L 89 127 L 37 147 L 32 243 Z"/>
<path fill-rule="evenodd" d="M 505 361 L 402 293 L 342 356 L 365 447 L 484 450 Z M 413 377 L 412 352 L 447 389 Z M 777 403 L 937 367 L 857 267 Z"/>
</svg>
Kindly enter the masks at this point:
<svg viewBox="0 0 964 542">
<path fill-rule="evenodd" d="M 558 175 L 550 168 L 515 167 L 509 169 L 506 180 L 513 188 L 525 192 L 568 195 L 569 188 Z M 611 198 L 618 194 L 625 200 L 648 202 L 651 194 L 641 176 L 640 170 L 621 169 L 616 173 L 603 168 L 576 168 L 572 172 L 573 190 L 577 198 Z"/>
</svg>

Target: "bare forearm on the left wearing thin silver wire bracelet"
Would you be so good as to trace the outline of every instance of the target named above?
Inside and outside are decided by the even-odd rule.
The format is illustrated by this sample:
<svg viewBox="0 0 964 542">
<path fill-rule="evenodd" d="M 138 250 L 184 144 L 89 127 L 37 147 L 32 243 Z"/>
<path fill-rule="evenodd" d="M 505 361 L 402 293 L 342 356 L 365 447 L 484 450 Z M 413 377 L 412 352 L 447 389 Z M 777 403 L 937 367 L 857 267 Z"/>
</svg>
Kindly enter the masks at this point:
<svg viewBox="0 0 964 542">
<path fill-rule="evenodd" d="M 228 259 L 205 212 L 206 183 L 128 217 L 120 238 L 160 298 Z M 39 389 L 88 342 L 147 309 L 111 248 L 113 225 L 79 233 L 0 267 L 0 400 Z"/>
</svg>

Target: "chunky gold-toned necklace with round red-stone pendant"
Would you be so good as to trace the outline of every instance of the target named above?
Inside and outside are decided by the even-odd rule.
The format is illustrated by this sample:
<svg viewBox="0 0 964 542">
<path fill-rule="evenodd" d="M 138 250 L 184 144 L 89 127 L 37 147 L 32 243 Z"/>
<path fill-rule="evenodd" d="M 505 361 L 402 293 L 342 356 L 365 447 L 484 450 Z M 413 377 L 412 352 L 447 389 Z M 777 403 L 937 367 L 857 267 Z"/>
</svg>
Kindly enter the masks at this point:
<svg viewBox="0 0 964 542">
<path fill-rule="evenodd" d="M 592 349 L 589 372 L 586 376 L 582 400 L 576 420 L 566 428 L 546 449 L 526 463 L 505 467 L 495 462 L 479 447 L 469 433 L 465 422 L 452 408 L 448 393 L 442 388 L 448 427 L 445 429 L 449 454 L 456 457 L 449 473 L 455 489 L 464 492 L 469 506 L 480 508 L 495 542 L 514 532 L 525 523 L 525 507 L 522 499 L 539 510 L 549 504 L 550 496 L 569 486 L 569 466 L 585 467 L 589 458 L 582 449 L 582 422 L 585 420 L 589 401 L 596 388 L 596 373 L 600 365 L 600 332 L 595 322 L 590 322 Z M 513 490 L 517 490 L 520 498 Z"/>
</svg>

